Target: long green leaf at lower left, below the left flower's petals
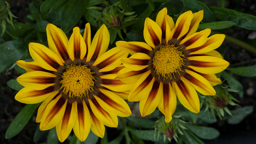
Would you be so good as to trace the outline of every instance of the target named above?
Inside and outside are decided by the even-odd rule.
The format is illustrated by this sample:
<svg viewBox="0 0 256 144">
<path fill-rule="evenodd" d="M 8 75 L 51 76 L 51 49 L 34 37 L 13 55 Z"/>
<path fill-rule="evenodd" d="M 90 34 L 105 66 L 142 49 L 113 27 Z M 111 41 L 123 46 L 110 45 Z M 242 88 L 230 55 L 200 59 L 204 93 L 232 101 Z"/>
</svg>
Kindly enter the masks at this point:
<svg viewBox="0 0 256 144">
<path fill-rule="evenodd" d="M 5 139 L 14 137 L 25 127 L 39 104 L 40 103 L 28 104 L 20 111 L 20 113 L 14 118 L 12 123 L 7 128 Z"/>
</svg>

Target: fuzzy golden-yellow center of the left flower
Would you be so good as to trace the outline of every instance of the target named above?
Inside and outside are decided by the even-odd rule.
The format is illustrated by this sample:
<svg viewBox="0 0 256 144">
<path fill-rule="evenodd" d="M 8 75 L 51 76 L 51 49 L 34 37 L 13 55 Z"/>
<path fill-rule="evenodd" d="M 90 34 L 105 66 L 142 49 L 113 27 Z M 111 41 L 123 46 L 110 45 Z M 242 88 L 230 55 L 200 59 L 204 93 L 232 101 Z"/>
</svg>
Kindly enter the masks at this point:
<svg viewBox="0 0 256 144">
<path fill-rule="evenodd" d="M 82 98 L 88 95 L 88 91 L 93 91 L 94 78 L 86 66 L 68 66 L 67 71 L 61 77 L 63 78 L 60 81 L 61 88 L 70 98 Z"/>
</svg>

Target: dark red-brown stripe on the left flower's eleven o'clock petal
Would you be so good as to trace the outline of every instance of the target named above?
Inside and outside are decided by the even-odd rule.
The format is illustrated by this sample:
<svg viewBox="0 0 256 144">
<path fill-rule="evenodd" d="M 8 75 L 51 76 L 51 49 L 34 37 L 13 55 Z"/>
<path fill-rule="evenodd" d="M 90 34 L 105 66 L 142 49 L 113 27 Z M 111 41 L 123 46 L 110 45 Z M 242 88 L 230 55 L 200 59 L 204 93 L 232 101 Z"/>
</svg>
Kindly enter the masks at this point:
<svg viewBox="0 0 256 144">
<path fill-rule="evenodd" d="M 53 29 L 53 31 L 50 30 L 50 35 L 52 37 L 53 43 L 55 44 L 57 51 L 60 53 L 61 58 L 66 62 L 67 60 L 70 60 L 70 58 L 68 56 L 66 46 L 64 45 L 60 36 L 57 34 L 58 34 L 58 32 L 55 31 L 54 29 Z"/>
</svg>

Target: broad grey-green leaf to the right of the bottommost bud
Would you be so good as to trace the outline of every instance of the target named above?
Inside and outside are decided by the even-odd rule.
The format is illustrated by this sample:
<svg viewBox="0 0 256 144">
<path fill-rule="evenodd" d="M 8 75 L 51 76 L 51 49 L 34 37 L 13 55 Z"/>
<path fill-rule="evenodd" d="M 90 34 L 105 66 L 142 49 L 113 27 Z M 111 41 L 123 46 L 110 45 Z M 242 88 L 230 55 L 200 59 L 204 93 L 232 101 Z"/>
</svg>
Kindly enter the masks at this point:
<svg viewBox="0 0 256 144">
<path fill-rule="evenodd" d="M 201 139 L 213 140 L 220 136 L 220 132 L 212 127 L 184 124 L 191 132 Z"/>
</svg>

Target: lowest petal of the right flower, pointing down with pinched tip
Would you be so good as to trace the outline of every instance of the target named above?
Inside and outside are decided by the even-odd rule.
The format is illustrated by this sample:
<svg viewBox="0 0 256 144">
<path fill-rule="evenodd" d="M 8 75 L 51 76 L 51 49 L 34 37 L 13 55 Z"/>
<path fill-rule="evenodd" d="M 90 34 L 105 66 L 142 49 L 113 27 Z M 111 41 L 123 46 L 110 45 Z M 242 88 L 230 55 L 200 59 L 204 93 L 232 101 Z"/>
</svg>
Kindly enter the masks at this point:
<svg viewBox="0 0 256 144">
<path fill-rule="evenodd" d="M 163 84 L 163 97 L 161 98 L 158 108 L 164 114 L 166 123 L 172 120 L 172 114 L 177 106 L 176 94 L 173 91 L 171 83 Z"/>
</svg>

